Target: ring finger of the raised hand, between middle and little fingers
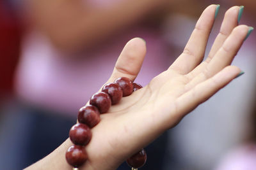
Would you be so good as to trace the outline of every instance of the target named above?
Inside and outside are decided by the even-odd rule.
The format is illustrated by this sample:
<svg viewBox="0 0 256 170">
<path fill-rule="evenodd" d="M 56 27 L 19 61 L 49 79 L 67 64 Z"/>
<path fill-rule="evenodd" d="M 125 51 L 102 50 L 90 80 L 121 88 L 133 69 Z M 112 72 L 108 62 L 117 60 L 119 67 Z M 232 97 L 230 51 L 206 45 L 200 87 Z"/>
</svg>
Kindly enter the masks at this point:
<svg viewBox="0 0 256 170">
<path fill-rule="evenodd" d="M 186 91 L 192 89 L 198 83 L 207 80 L 207 78 L 210 78 L 224 67 L 230 65 L 239 48 L 241 48 L 247 32 L 248 27 L 246 25 L 237 26 L 225 43 L 223 43 L 223 46 L 221 46 L 211 62 L 205 66 L 203 71 L 200 71 L 199 74 L 189 81 L 185 87 Z"/>
</svg>

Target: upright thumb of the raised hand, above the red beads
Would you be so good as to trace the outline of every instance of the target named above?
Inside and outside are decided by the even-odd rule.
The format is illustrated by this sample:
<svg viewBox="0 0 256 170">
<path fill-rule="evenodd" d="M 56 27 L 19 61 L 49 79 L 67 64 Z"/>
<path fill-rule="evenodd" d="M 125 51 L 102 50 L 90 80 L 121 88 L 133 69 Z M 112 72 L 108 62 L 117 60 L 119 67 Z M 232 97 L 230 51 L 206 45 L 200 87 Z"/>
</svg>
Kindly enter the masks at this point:
<svg viewBox="0 0 256 170">
<path fill-rule="evenodd" d="M 140 72 L 141 65 L 146 55 L 146 43 L 141 38 L 131 39 L 122 50 L 115 68 L 108 82 L 113 82 L 116 78 L 125 76 L 132 81 Z"/>
</svg>

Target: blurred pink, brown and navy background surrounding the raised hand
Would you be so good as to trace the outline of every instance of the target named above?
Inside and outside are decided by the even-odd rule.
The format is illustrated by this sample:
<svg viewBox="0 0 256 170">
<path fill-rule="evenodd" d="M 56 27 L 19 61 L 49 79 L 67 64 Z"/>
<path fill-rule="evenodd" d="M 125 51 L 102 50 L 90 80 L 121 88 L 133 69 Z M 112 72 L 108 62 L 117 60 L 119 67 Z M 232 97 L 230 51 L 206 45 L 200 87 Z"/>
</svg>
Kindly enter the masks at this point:
<svg viewBox="0 0 256 170">
<path fill-rule="evenodd" d="M 212 3 L 220 12 L 205 56 L 231 6 L 244 5 L 239 24 L 256 26 L 255 1 L 0 1 L 0 169 L 23 169 L 63 143 L 134 37 L 147 41 L 136 79 L 147 85 L 179 56 Z M 149 145 L 141 170 L 256 167 L 255 37 L 233 62 L 245 74 Z"/>
</svg>

